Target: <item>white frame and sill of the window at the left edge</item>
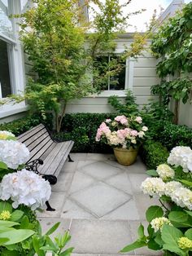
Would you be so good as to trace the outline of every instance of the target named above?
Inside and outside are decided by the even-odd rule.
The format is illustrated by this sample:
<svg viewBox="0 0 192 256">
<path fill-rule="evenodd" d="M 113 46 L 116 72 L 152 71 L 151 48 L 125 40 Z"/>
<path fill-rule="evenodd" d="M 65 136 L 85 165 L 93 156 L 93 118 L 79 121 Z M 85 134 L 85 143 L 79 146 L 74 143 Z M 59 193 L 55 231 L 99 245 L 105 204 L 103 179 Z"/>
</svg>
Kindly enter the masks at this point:
<svg viewBox="0 0 192 256">
<path fill-rule="evenodd" d="M 8 0 L 8 6 L 9 14 L 18 14 L 21 12 L 20 0 Z M 24 52 L 19 39 L 19 25 L 17 22 L 18 20 L 13 19 L 14 39 L 0 33 L 0 39 L 7 42 L 12 94 L 20 94 L 24 91 L 25 86 Z M 0 94 L 0 98 L 2 98 L 1 96 Z M 26 111 L 26 109 L 25 102 L 2 105 L 0 106 L 0 118 Z"/>
</svg>

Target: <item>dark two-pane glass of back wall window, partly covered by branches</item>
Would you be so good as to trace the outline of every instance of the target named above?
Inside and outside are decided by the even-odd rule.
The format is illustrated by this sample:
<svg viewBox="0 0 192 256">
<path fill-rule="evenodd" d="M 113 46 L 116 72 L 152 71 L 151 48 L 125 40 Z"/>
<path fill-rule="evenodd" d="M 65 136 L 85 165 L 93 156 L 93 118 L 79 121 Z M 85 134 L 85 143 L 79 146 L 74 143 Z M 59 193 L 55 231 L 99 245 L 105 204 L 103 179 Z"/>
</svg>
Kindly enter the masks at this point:
<svg viewBox="0 0 192 256">
<path fill-rule="evenodd" d="M 98 56 L 94 61 L 93 83 L 102 90 L 124 90 L 126 61 L 120 55 Z"/>
</svg>

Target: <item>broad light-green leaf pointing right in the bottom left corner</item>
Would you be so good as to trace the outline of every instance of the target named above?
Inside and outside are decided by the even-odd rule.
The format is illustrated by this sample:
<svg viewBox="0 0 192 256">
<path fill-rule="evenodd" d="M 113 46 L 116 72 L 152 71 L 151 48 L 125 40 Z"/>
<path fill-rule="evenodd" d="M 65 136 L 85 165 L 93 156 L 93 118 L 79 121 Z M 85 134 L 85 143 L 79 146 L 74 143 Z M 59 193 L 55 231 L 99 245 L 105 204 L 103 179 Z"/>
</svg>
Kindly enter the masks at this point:
<svg viewBox="0 0 192 256">
<path fill-rule="evenodd" d="M 0 238 L 9 238 L 9 241 L 5 242 L 4 245 L 13 245 L 24 241 L 29 236 L 33 236 L 35 232 L 28 229 L 14 229 L 7 232 L 0 233 Z"/>
</svg>

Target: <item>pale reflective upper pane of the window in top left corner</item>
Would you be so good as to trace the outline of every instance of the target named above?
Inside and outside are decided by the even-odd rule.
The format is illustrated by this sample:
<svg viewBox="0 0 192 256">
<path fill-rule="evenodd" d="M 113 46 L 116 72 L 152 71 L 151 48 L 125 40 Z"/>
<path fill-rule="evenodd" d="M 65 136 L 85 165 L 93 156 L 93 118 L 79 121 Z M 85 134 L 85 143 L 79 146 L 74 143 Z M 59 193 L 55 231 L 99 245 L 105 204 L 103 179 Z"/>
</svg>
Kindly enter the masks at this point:
<svg viewBox="0 0 192 256">
<path fill-rule="evenodd" d="M 0 0 L 0 33 L 13 38 L 12 23 L 8 18 L 8 3 L 5 0 Z"/>
</svg>

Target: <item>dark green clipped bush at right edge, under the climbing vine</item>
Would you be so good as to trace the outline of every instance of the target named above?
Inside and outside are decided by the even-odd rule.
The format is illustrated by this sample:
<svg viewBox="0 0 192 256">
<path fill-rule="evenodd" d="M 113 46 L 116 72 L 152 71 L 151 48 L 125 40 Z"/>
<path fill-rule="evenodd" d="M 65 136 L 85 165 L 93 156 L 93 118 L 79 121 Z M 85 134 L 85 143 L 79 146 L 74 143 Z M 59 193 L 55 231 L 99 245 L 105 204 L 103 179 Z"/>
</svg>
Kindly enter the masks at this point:
<svg viewBox="0 0 192 256">
<path fill-rule="evenodd" d="M 171 150 L 176 146 L 188 146 L 192 148 L 192 129 L 187 126 L 172 124 L 164 121 L 164 129 L 162 130 L 159 141 Z"/>
</svg>

